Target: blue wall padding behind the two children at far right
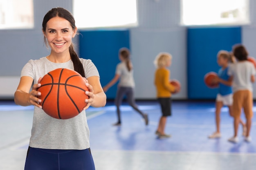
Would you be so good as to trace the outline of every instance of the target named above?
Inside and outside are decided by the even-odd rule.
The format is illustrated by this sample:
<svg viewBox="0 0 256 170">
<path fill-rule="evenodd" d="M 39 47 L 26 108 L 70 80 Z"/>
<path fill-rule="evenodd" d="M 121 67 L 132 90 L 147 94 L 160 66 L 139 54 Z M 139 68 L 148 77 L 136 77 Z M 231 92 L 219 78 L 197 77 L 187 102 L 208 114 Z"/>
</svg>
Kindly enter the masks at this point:
<svg viewBox="0 0 256 170">
<path fill-rule="evenodd" d="M 204 84 L 204 75 L 218 73 L 217 53 L 241 43 L 240 27 L 189 28 L 187 30 L 188 98 L 215 99 L 218 90 Z"/>
</svg>

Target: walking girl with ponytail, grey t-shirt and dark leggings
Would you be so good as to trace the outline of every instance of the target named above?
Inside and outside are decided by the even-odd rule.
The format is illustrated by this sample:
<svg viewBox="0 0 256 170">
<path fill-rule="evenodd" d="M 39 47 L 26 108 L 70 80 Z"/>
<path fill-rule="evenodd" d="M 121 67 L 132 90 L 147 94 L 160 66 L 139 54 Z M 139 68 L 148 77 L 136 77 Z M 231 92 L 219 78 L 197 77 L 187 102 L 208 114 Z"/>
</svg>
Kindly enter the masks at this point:
<svg viewBox="0 0 256 170">
<path fill-rule="evenodd" d="M 135 82 L 133 78 L 133 69 L 132 69 L 132 62 L 130 61 L 130 51 L 127 48 L 121 48 L 119 50 L 119 60 L 121 61 L 117 64 L 115 77 L 103 87 L 103 90 L 106 92 L 108 88 L 113 86 L 119 79 L 120 82 L 118 84 L 117 95 L 115 98 L 115 105 L 117 106 L 117 123 L 113 124 L 114 126 L 121 125 L 121 111 L 120 105 L 124 98 L 124 95 L 127 97 L 127 101 L 134 108 L 145 120 L 145 124 L 148 125 L 148 115 L 141 112 L 138 106 L 135 104 L 134 98 L 134 87 Z"/>
</svg>

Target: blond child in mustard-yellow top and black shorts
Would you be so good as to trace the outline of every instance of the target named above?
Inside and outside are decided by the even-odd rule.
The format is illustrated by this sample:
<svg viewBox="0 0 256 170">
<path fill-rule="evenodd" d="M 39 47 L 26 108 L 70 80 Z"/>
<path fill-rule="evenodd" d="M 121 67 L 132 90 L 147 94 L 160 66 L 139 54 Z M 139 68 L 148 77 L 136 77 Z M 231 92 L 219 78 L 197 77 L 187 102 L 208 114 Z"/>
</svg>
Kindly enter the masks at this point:
<svg viewBox="0 0 256 170">
<path fill-rule="evenodd" d="M 170 84 L 170 71 L 168 67 L 171 66 L 172 56 L 169 53 L 159 53 L 154 61 L 157 67 L 155 71 L 155 86 L 157 91 L 157 99 L 160 103 L 162 116 L 155 134 L 160 138 L 168 138 L 165 130 L 166 120 L 171 116 L 171 93 L 179 92 L 180 88 Z"/>
</svg>

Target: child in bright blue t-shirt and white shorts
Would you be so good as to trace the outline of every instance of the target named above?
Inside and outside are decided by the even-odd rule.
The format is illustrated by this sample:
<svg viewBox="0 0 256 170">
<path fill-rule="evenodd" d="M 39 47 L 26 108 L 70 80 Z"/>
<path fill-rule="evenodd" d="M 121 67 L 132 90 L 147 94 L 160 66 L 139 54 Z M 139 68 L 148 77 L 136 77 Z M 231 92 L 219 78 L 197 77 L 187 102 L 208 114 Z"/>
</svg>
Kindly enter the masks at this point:
<svg viewBox="0 0 256 170">
<path fill-rule="evenodd" d="M 233 93 L 232 93 L 232 82 L 230 81 L 229 75 L 227 75 L 227 71 L 229 69 L 229 62 L 233 62 L 231 55 L 228 51 L 221 50 L 217 55 L 217 63 L 220 68 L 218 77 L 213 79 L 214 83 L 219 83 L 218 94 L 216 97 L 216 132 L 209 136 L 209 138 L 219 138 L 221 137 L 220 133 L 220 111 L 222 106 L 228 106 L 229 115 L 233 116 Z M 240 123 L 243 125 L 243 135 L 246 135 L 246 126 L 243 121 L 240 119 Z"/>
</svg>

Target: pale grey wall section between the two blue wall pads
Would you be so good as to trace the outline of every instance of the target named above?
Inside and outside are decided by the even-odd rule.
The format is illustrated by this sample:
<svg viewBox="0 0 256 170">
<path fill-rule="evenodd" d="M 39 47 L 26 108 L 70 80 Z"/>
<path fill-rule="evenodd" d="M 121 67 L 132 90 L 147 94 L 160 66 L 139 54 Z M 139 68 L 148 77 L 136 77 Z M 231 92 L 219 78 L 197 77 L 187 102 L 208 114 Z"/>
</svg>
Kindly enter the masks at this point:
<svg viewBox="0 0 256 170">
<path fill-rule="evenodd" d="M 156 97 L 153 60 L 158 53 L 168 52 L 173 55 L 171 79 L 178 79 L 182 85 L 173 99 L 186 99 L 186 28 L 179 26 L 180 0 L 139 0 L 138 15 L 139 26 L 130 31 L 135 97 Z"/>
</svg>

